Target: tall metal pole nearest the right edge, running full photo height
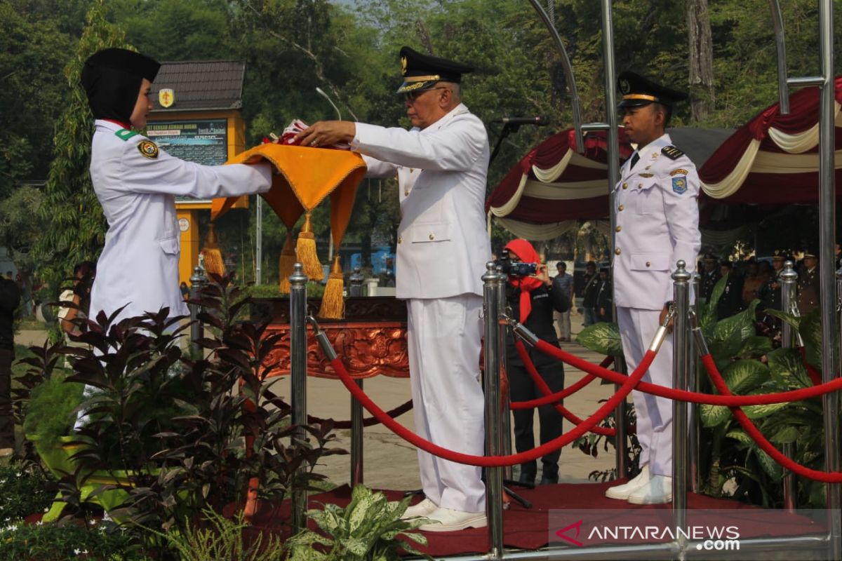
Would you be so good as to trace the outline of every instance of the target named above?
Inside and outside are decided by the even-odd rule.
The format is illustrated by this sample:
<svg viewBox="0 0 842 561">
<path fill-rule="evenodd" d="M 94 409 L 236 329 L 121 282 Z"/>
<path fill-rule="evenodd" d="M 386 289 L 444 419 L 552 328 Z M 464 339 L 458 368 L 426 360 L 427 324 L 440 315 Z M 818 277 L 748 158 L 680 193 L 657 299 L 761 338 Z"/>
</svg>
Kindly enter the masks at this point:
<svg viewBox="0 0 842 561">
<path fill-rule="evenodd" d="M 836 192 L 834 188 L 834 3 L 819 0 L 818 38 L 821 53 L 823 84 L 818 111 L 818 176 L 819 182 L 819 286 L 822 306 L 822 381 L 828 383 L 837 377 L 835 341 L 836 318 L 832 303 L 834 294 L 834 242 L 836 236 Z M 839 440 L 839 394 L 824 394 L 824 458 L 829 472 L 842 467 Z M 839 484 L 827 485 L 827 510 L 829 524 L 830 558 L 842 558 L 842 494 Z"/>
</svg>

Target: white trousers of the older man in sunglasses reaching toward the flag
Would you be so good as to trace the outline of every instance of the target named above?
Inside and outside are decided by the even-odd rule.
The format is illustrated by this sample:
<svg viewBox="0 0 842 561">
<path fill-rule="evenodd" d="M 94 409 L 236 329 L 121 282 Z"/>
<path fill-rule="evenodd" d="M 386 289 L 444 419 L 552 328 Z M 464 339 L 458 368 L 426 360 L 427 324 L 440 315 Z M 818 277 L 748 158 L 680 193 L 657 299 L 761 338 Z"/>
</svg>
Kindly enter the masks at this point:
<svg viewBox="0 0 842 561">
<path fill-rule="evenodd" d="M 479 383 L 482 298 L 407 300 L 409 378 L 415 431 L 456 452 L 482 456 L 484 406 Z M 480 468 L 418 450 L 424 495 L 456 511 L 485 511 Z"/>
</svg>

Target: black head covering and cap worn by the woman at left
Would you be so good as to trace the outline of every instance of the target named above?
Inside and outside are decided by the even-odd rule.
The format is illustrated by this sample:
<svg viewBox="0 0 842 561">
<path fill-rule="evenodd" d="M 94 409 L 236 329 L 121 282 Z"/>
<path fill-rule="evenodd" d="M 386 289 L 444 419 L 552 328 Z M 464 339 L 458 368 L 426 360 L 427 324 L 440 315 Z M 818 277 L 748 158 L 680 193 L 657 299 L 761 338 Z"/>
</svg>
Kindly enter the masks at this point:
<svg viewBox="0 0 842 561">
<path fill-rule="evenodd" d="M 134 50 L 103 49 L 89 56 L 82 68 L 82 87 L 94 119 L 129 121 L 143 78 L 154 81 L 160 67 Z"/>
</svg>

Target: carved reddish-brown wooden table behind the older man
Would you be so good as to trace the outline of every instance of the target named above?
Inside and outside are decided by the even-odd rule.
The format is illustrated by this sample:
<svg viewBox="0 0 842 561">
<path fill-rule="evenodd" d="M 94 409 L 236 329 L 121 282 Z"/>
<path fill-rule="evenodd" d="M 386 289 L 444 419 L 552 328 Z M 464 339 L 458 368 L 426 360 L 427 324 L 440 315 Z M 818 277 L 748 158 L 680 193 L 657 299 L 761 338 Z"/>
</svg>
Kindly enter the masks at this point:
<svg viewBox="0 0 842 561">
<path fill-rule="evenodd" d="M 307 299 L 307 315 L 315 316 L 320 303 L 319 299 Z M 267 331 L 281 335 L 266 361 L 272 367 L 269 376 L 285 376 L 290 373 L 290 300 L 256 300 L 252 320 L 267 319 L 271 320 Z M 403 300 L 392 296 L 348 298 L 344 320 L 318 319 L 318 322 L 353 378 L 379 374 L 409 377 L 407 304 Z M 307 375 L 337 378 L 309 328 Z"/>
</svg>

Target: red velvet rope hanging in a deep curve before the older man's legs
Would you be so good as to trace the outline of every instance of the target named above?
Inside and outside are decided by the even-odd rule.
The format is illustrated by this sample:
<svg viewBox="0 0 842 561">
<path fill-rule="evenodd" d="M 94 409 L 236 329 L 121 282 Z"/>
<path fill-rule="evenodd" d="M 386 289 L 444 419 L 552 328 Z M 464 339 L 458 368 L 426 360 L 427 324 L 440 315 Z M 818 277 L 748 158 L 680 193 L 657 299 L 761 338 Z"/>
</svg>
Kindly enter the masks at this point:
<svg viewBox="0 0 842 561">
<path fill-rule="evenodd" d="M 402 426 L 400 423 L 386 415 L 384 410 L 378 407 L 357 384 L 354 384 L 354 380 L 350 377 L 348 371 L 345 370 L 345 366 L 342 363 L 341 358 L 334 358 L 330 364 L 333 366 L 334 372 L 338 375 L 342 384 L 344 384 L 345 389 L 348 389 L 349 393 L 359 400 L 360 404 L 362 404 L 363 407 L 371 413 L 371 415 L 374 415 L 379 421 L 381 421 L 381 423 L 383 423 L 383 425 L 388 427 L 389 430 L 397 434 L 397 436 L 402 437 L 407 442 L 421 448 L 424 452 L 434 454 L 440 458 L 445 458 L 445 460 L 450 460 L 451 462 L 465 463 L 467 465 L 485 468 L 500 468 L 503 466 L 514 465 L 516 463 L 531 462 L 532 460 L 546 456 L 546 454 L 555 452 L 556 450 L 567 446 L 578 437 L 584 435 L 584 433 L 590 431 L 597 425 L 597 423 L 605 419 L 605 416 L 610 415 L 610 413 L 616 409 L 617 405 L 619 405 L 622 400 L 626 399 L 626 396 L 632 391 L 632 388 L 637 386 L 637 384 L 641 381 L 643 374 L 646 373 L 654 358 L 655 352 L 647 351 L 646 354 L 643 355 L 643 360 L 637 366 L 637 369 L 632 373 L 632 375 L 624 377 L 626 378 L 625 382 L 622 384 L 621 388 L 617 390 L 616 394 L 612 395 L 611 398 L 600 407 L 600 409 L 596 410 L 593 415 L 590 415 L 580 425 L 573 427 L 571 431 L 562 434 L 560 437 L 552 439 L 550 442 L 541 444 L 539 447 L 532 448 L 531 450 L 522 453 L 509 454 L 508 456 L 475 456 L 472 454 L 454 452 L 452 450 L 448 450 L 447 448 L 437 446 L 433 442 L 429 442 L 429 440 L 422 437 L 418 437 L 418 435 L 413 431 L 409 431 L 405 426 Z"/>
</svg>

